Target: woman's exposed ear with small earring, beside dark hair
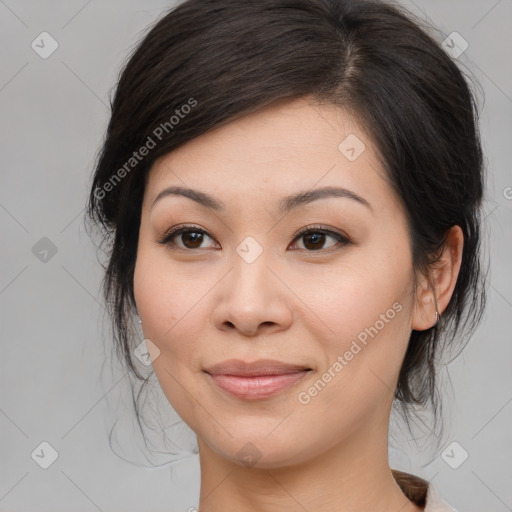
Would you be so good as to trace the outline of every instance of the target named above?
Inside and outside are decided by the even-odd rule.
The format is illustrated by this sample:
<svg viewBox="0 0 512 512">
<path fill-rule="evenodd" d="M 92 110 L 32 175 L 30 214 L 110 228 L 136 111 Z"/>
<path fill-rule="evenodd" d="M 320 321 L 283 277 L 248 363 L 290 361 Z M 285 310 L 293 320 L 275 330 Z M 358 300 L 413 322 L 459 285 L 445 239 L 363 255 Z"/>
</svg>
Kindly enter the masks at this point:
<svg viewBox="0 0 512 512">
<path fill-rule="evenodd" d="M 416 291 L 411 328 L 424 331 L 436 324 L 436 311 L 443 313 L 457 283 L 464 235 L 460 226 L 452 226 L 445 235 L 445 245 L 439 261 L 434 263 L 429 276 L 423 276 Z"/>
</svg>

